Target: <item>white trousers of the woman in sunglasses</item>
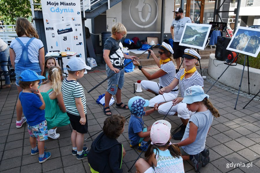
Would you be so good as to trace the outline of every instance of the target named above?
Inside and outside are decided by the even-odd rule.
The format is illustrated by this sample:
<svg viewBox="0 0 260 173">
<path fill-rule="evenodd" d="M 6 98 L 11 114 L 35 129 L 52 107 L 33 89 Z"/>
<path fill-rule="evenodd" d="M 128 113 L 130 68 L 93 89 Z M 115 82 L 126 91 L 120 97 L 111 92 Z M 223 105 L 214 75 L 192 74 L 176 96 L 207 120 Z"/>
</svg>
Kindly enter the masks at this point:
<svg viewBox="0 0 260 173">
<path fill-rule="evenodd" d="M 159 84 L 160 86 L 160 84 Z M 153 81 L 150 81 L 150 80 L 142 80 L 141 81 L 141 87 L 142 89 L 149 89 L 157 94 L 159 94 L 159 86 L 158 86 L 158 83 L 157 82 L 153 82 Z M 172 102 L 172 100 L 176 99 L 176 97 L 178 96 L 177 93 L 164 93 L 163 95 L 157 95 L 155 97 L 153 97 L 151 100 L 149 100 L 149 107 L 154 107 L 154 104 L 155 103 L 163 103 L 163 102 Z M 164 100 L 165 98 L 165 100 Z"/>
</svg>

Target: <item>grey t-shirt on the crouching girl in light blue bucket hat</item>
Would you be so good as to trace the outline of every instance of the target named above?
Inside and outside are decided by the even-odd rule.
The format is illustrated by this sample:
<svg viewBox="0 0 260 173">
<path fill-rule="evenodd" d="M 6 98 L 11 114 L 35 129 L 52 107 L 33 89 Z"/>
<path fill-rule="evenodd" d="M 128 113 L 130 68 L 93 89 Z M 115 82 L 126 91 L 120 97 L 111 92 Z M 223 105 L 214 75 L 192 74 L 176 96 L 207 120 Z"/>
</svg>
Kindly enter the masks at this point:
<svg viewBox="0 0 260 173">
<path fill-rule="evenodd" d="M 204 150 L 206 137 L 212 121 L 213 115 L 209 110 L 204 112 L 196 112 L 195 114 L 190 116 L 189 123 L 187 124 L 185 133 L 181 141 L 189 137 L 190 122 L 194 123 L 198 127 L 198 131 L 196 140 L 193 143 L 181 147 L 187 154 L 195 155 Z"/>
</svg>

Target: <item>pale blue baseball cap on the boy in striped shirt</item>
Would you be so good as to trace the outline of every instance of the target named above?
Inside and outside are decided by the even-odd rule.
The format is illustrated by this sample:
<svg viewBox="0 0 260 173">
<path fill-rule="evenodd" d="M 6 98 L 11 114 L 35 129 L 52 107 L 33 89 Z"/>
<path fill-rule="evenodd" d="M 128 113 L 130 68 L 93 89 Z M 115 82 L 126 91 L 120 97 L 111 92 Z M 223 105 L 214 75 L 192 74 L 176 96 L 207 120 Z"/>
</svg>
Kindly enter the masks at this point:
<svg viewBox="0 0 260 173">
<path fill-rule="evenodd" d="M 87 69 L 87 70 L 91 70 L 91 67 L 86 65 L 86 62 L 83 61 L 82 58 L 80 57 L 73 57 L 68 61 L 67 64 L 69 67 L 67 67 L 68 70 L 70 71 L 79 71 L 82 69 Z"/>
</svg>

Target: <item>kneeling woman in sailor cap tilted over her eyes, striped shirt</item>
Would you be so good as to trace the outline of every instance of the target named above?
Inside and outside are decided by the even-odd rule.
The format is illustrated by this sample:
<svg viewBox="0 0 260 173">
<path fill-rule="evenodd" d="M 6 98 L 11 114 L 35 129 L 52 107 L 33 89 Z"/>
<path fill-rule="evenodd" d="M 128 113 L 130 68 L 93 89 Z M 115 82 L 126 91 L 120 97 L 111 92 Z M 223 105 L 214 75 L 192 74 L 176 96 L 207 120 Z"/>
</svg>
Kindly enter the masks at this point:
<svg viewBox="0 0 260 173">
<path fill-rule="evenodd" d="M 181 102 L 183 100 L 185 90 L 193 85 L 199 85 L 201 87 L 204 86 L 203 78 L 200 76 L 195 67 L 195 64 L 198 63 L 198 60 L 200 58 L 200 55 L 195 50 L 185 49 L 183 55 L 183 63 L 185 64 L 186 68 L 181 69 L 176 74 L 174 80 L 169 86 L 166 86 L 158 91 L 159 94 L 165 94 L 170 92 L 179 84 L 181 97 L 177 97 L 172 101 L 162 104 L 158 108 L 158 112 L 162 115 L 166 115 L 169 110 L 170 112 L 168 113 L 168 115 L 174 115 L 176 112 L 178 112 L 178 116 L 181 118 L 183 125 L 181 126 L 181 130 L 173 135 L 173 138 L 175 140 L 182 139 L 190 116 L 195 113 L 189 111 L 187 109 L 187 105 Z"/>
</svg>

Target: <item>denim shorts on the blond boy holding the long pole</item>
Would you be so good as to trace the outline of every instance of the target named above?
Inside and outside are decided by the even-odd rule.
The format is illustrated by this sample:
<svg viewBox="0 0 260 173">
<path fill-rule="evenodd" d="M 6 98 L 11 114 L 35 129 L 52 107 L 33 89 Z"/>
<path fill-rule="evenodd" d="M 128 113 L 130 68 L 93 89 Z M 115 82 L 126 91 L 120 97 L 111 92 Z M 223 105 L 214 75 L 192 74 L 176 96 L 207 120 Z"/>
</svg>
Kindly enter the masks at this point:
<svg viewBox="0 0 260 173">
<path fill-rule="evenodd" d="M 119 69 L 119 68 L 118 68 Z M 115 72 L 112 71 L 107 65 L 106 65 L 106 73 L 107 77 L 111 76 Z M 124 69 L 120 70 L 117 74 L 109 78 L 108 80 L 108 87 L 107 92 L 115 95 L 117 92 L 117 88 L 122 89 L 125 81 L 125 71 Z"/>
</svg>

